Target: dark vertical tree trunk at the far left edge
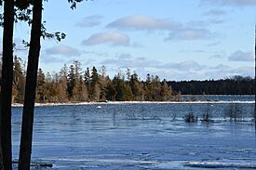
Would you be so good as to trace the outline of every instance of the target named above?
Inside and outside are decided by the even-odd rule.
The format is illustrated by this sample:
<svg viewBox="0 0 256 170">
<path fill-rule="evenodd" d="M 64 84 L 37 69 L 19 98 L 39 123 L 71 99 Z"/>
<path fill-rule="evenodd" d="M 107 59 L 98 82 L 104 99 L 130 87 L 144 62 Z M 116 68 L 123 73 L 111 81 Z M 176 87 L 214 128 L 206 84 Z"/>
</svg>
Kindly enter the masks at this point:
<svg viewBox="0 0 256 170">
<path fill-rule="evenodd" d="M 1 147 L 4 168 L 12 169 L 11 160 L 11 95 L 13 77 L 14 0 L 4 2 L 3 62 L 1 85 Z"/>
</svg>

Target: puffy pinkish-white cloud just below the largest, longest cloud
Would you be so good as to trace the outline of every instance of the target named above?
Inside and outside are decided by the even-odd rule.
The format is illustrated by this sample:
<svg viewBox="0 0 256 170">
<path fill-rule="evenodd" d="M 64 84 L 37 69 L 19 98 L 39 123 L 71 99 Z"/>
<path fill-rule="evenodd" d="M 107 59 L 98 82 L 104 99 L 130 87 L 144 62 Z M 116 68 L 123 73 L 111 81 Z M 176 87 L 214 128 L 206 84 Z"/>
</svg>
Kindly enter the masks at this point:
<svg viewBox="0 0 256 170">
<path fill-rule="evenodd" d="M 112 46 L 130 46 L 128 35 L 115 31 L 95 33 L 82 42 L 82 45 L 85 46 L 95 46 L 101 44 L 110 44 Z"/>
</svg>

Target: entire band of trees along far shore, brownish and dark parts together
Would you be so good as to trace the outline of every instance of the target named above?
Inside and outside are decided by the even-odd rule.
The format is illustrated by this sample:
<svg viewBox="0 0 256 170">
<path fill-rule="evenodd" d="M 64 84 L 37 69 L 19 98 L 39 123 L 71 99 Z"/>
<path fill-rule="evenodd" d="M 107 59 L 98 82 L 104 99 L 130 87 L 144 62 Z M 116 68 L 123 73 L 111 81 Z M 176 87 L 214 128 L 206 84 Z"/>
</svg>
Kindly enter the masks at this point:
<svg viewBox="0 0 256 170">
<path fill-rule="evenodd" d="M 14 59 L 12 99 L 23 103 L 25 89 L 25 64 Z M 1 72 L 1 70 L 0 70 Z M 60 72 L 37 74 L 36 102 L 84 101 L 180 101 L 182 94 L 190 95 L 249 95 L 253 94 L 253 79 L 235 76 L 224 80 L 168 82 L 157 75 L 147 74 L 141 80 L 136 72 L 117 72 L 114 78 L 106 74 L 104 66 L 83 71 L 81 63 L 74 60 L 64 65 Z"/>
</svg>

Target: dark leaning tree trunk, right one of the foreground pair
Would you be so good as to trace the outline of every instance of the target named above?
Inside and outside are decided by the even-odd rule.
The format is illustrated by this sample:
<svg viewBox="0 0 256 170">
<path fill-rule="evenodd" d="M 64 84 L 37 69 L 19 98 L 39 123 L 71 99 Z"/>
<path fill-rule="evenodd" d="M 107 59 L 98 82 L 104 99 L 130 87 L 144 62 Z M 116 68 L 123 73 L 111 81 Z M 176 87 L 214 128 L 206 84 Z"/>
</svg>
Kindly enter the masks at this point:
<svg viewBox="0 0 256 170">
<path fill-rule="evenodd" d="M 43 0 L 34 1 L 31 41 L 28 56 L 25 98 L 22 115 L 19 170 L 29 170 L 31 162 L 34 98 L 36 89 L 37 69 L 40 55 L 40 37 L 42 23 Z"/>
</svg>

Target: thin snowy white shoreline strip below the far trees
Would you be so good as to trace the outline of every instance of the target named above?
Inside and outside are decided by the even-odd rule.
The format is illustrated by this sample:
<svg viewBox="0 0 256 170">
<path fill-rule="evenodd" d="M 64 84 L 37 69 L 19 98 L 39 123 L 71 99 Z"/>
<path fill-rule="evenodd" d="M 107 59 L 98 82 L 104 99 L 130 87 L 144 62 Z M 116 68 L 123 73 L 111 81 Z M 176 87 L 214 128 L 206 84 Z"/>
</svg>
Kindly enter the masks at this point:
<svg viewBox="0 0 256 170">
<path fill-rule="evenodd" d="M 228 104 L 228 103 L 244 103 L 244 104 L 254 104 L 255 101 L 107 101 L 107 102 L 67 102 L 67 103 L 35 103 L 35 107 L 42 106 L 81 106 L 81 105 L 108 105 L 108 104 Z M 23 104 L 13 103 L 12 107 L 23 107 Z"/>
</svg>

